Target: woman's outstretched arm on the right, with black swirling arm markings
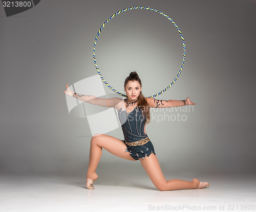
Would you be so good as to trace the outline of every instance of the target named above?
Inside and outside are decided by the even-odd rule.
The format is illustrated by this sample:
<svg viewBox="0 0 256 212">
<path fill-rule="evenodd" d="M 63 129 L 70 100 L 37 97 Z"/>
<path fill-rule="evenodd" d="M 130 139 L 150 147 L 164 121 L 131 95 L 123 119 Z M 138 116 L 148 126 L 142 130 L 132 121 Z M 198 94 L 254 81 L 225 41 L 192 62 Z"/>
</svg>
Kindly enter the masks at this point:
<svg viewBox="0 0 256 212">
<path fill-rule="evenodd" d="M 146 98 L 146 101 L 150 107 L 180 107 L 185 105 L 195 105 L 188 97 L 186 100 L 157 100 L 154 98 Z"/>
</svg>

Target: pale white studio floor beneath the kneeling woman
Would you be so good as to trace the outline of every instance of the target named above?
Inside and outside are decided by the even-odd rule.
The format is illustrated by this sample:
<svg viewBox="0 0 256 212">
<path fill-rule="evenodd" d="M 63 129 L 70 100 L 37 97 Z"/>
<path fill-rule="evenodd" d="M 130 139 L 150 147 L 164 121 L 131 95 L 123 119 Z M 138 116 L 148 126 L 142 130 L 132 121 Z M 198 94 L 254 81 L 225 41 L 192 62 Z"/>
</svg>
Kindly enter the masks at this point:
<svg viewBox="0 0 256 212">
<path fill-rule="evenodd" d="M 256 210 L 255 176 L 204 175 L 203 178 L 210 183 L 204 189 L 158 191 L 145 175 L 132 178 L 131 174 L 129 178 L 120 173 L 114 178 L 110 174 L 95 181 L 95 190 L 88 190 L 86 178 L 81 175 L 2 174 L 0 211 Z"/>
</svg>

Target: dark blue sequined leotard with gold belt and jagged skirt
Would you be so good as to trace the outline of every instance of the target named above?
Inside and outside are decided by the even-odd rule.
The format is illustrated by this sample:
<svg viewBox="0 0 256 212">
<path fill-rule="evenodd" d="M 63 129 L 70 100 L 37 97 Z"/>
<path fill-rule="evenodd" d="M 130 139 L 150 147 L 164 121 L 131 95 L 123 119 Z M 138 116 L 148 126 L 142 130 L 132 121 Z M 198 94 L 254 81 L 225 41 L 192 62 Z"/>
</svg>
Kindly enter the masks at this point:
<svg viewBox="0 0 256 212">
<path fill-rule="evenodd" d="M 130 152 L 130 155 L 136 160 L 139 158 L 144 160 L 145 156 L 150 156 L 151 153 L 156 155 L 153 144 L 147 134 L 144 133 L 146 117 L 141 111 L 142 109 L 138 106 L 129 113 L 125 109 L 122 110 L 122 108 L 118 110 L 118 117 L 124 135 L 124 140 L 122 141 L 127 147 L 124 152 Z M 129 143 L 132 144 L 141 140 L 146 140 L 147 142 L 144 142 L 145 144 L 143 145 L 129 145 Z"/>
</svg>

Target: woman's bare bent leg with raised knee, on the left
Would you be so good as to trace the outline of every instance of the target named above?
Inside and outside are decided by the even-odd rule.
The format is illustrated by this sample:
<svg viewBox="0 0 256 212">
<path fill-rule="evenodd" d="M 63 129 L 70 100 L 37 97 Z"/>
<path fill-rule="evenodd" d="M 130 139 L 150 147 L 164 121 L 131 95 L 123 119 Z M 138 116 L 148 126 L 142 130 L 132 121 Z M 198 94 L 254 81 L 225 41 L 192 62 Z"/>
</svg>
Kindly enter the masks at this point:
<svg viewBox="0 0 256 212">
<path fill-rule="evenodd" d="M 124 152 L 126 149 L 126 145 L 122 142 L 122 140 L 112 137 L 110 135 L 97 134 L 91 139 L 87 178 L 93 180 L 96 180 L 98 178 L 95 171 L 102 155 L 102 148 L 109 151 L 113 155 L 116 155 L 123 159 L 135 160 L 129 152 Z"/>
</svg>

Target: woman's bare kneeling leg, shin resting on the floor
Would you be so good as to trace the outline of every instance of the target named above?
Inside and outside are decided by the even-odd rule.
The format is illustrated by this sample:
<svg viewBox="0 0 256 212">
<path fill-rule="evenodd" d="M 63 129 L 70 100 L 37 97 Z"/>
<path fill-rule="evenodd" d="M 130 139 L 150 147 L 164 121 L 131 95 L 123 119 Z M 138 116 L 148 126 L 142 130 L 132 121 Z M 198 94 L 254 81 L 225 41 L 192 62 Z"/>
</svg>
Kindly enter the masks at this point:
<svg viewBox="0 0 256 212">
<path fill-rule="evenodd" d="M 193 179 L 192 181 L 179 179 L 172 179 L 166 181 L 160 164 L 158 162 L 157 156 L 153 153 L 148 157 L 146 156 L 144 160 L 140 158 L 140 162 L 153 184 L 160 191 L 197 189 L 199 186 L 200 181 L 198 179 Z"/>
</svg>

